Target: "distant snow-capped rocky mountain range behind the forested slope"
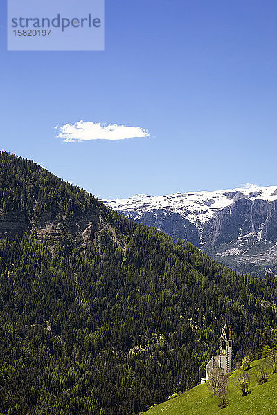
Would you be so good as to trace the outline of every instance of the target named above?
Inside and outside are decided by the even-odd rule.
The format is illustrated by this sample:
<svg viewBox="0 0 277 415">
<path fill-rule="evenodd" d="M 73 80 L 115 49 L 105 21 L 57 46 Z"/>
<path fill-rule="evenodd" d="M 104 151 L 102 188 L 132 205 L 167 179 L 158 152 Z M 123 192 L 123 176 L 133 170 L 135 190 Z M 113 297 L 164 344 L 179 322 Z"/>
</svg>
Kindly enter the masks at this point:
<svg viewBox="0 0 277 415">
<path fill-rule="evenodd" d="M 132 221 L 187 239 L 240 269 L 277 270 L 277 187 L 236 188 L 105 200 Z M 276 263 L 276 267 L 275 267 Z"/>
</svg>

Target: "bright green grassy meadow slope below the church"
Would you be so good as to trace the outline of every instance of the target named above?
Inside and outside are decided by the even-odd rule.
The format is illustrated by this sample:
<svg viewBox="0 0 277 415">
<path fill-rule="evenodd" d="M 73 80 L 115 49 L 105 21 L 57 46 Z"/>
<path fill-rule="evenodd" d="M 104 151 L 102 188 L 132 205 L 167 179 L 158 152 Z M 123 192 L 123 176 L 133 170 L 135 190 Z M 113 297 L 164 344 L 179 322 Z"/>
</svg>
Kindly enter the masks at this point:
<svg viewBox="0 0 277 415">
<path fill-rule="evenodd" d="M 145 415 L 273 415 L 277 411 L 277 374 L 270 374 L 270 380 L 262 385 L 256 384 L 255 368 L 260 360 L 251 363 L 251 387 L 247 396 L 242 396 L 235 385 L 235 371 L 229 378 L 229 407 L 220 409 L 217 407 L 218 398 L 213 396 L 207 385 L 197 385 L 190 391 L 168 400 L 153 409 L 145 412 Z M 270 370 L 269 370 L 270 371 Z"/>
</svg>

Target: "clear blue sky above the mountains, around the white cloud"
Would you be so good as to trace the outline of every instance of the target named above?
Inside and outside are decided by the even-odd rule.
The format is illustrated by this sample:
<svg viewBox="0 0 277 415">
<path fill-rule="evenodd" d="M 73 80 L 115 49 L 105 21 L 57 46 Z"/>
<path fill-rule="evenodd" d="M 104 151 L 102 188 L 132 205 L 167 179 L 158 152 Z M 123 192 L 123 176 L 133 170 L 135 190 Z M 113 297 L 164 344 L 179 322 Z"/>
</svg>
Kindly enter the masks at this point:
<svg viewBox="0 0 277 415">
<path fill-rule="evenodd" d="M 7 52 L 0 147 L 102 198 L 276 185 L 276 0 L 106 0 L 104 52 Z M 64 142 L 55 126 L 148 136 Z"/>
</svg>

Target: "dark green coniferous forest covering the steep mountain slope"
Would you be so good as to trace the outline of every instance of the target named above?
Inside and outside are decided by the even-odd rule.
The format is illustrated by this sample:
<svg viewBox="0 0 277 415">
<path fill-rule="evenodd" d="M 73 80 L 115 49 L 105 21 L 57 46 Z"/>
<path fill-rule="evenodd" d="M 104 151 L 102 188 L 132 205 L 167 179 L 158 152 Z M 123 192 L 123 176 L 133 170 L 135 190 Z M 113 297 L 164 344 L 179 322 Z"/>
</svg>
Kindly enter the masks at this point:
<svg viewBox="0 0 277 415">
<path fill-rule="evenodd" d="M 276 327 L 277 279 L 236 274 L 39 165 L 0 154 L 0 414 L 131 415 Z"/>
</svg>

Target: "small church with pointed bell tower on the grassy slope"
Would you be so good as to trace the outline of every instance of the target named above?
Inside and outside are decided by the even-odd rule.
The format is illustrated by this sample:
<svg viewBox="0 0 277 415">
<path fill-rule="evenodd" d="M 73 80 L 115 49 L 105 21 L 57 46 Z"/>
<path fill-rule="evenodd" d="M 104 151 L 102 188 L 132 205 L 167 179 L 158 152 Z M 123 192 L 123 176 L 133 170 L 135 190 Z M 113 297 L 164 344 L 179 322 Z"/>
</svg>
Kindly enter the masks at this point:
<svg viewBox="0 0 277 415">
<path fill-rule="evenodd" d="M 212 356 L 206 365 L 206 378 L 201 379 L 201 383 L 213 377 L 213 371 L 221 369 L 224 374 L 231 373 L 232 370 L 232 337 L 231 329 L 225 323 L 220 336 L 220 354 Z"/>
</svg>

